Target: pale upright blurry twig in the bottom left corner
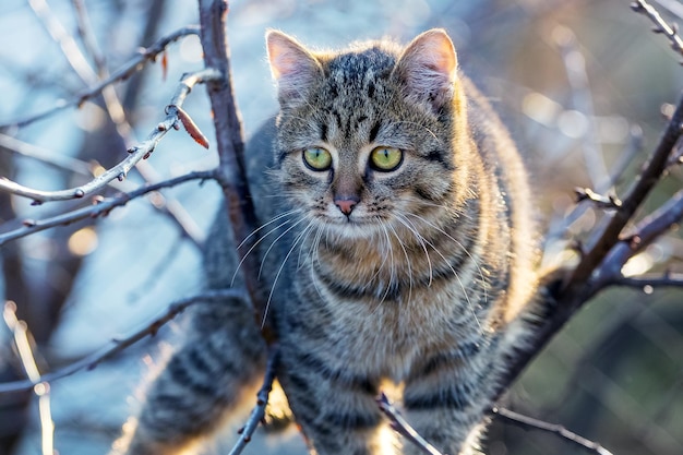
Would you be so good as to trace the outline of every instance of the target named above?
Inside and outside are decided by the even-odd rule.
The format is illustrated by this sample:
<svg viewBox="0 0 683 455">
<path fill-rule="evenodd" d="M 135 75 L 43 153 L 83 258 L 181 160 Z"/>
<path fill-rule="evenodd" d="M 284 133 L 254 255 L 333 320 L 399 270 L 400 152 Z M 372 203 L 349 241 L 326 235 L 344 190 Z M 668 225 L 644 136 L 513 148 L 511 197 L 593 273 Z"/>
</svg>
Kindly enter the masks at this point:
<svg viewBox="0 0 683 455">
<path fill-rule="evenodd" d="M 4 322 L 12 332 L 14 345 L 19 351 L 19 357 L 28 376 L 28 381 L 34 385 L 33 392 L 38 397 L 38 415 L 40 416 L 40 441 L 43 455 L 55 454 L 55 422 L 50 410 L 50 386 L 40 378 L 40 372 L 36 359 L 28 342 L 28 328 L 24 321 L 16 319 L 16 304 L 7 301 L 3 311 Z"/>
</svg>

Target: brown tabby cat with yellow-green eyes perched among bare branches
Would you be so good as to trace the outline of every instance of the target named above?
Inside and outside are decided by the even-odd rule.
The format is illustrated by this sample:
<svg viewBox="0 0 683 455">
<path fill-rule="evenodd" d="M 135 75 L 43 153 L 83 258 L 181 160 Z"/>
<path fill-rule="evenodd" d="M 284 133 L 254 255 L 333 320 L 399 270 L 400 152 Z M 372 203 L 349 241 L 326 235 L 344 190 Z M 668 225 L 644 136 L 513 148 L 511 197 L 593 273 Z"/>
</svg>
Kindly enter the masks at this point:
<svg viewBox="0 0 683 455">
<path fill-rule="evenodd" d="M 388 386 L 436 448 L 476 453 L 537 286 L 514 144 L 442 29 L 340 52 L 266 40 L 280 112 L 245 152 L 263 223 L 250 254 L 311 453 L 418 453 L 378 408 Z M 207 243 L 211 288 L 238 267 L 227 223 Z M 131 455 L 181 452 L 253 403 L 265 344 L 251 309 L 197 307 L 193 324 L 149 386 Z"/>
</svg>

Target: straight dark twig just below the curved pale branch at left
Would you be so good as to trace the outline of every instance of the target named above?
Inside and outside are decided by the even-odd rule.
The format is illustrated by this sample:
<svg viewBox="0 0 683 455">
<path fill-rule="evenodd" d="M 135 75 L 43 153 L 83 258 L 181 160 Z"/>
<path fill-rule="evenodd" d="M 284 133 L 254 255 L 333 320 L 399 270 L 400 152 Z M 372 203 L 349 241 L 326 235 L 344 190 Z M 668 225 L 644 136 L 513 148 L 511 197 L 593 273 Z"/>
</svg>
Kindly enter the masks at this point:
<svg viewBox="0 0 683 455">
<path fill-rule="evenodd" d="M 135 197 L 140 197 L 143 194 L 158 191 L 163 188 L 171 188 L 191 180 L 208 180 L 215 178 L 215 170 L 190 172 L 169 180 L 164 180 L 159 183 L 141 187 L 129 193 L 122 193 L 117 196 L 106 199 L 94 205 L 88 205 L 86 207 L 76 208 L 72 212 L 55 215 L 50 218 L 44 218 L 38 220 L 26 219 L 24 220 L 23 227 L 10 230 L 4 234 L 0 234 L 0 247 L 9 241 L 29 236 L 40 230 L 49 229 L 56 226 L 69 225 L 71 223 L 85 218 L 96 218 L 101 215 L 107 215 L 109 212 L 111 212 L 112 208 L 121 207 L 128 204 L 128 202 L 134 200 Z"/>
</svg>

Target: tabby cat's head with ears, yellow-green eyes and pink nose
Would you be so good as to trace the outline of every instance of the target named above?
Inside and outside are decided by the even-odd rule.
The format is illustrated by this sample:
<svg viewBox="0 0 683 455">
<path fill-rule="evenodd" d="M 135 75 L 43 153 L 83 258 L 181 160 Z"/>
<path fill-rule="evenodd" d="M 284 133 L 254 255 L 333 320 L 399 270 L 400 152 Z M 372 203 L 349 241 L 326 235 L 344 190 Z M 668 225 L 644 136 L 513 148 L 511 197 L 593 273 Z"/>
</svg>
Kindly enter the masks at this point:
<svg viewBox="0 0 683 455">
<path fill-rule="evenodd" d="M 275 31 L 266 43 L 280 104 L 276 173 L 295 207 L 356 237 L 451 205 L 465 101 L 444 31 L 340 52 Z"/>
</svg>

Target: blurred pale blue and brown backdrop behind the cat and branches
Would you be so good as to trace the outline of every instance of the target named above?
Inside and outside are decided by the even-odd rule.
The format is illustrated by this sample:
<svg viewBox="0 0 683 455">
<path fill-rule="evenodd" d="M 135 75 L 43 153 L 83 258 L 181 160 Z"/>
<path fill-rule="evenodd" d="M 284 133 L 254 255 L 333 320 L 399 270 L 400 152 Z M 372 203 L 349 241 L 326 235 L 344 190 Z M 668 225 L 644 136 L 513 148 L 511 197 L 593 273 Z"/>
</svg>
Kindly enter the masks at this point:
<svg viewBox="0 0 683 455">
<path fill-rule="evenodd" d="M 683 4 L 652 1 L 668 21 Z M 101 96 L 27 125 L 17 120 L 74 99 L 141 47 L 197 23 L 192 1 L 3 0 L 0 4 L 0 176 L 57 190 L 109 168 L 164 119 L 185 72 L 202 69 L 194 36 L 168 47 L 117 83 L 122 115 Z M 228 35 L 237 101 L 247 135 L 276 110 L 263 35 L 280 28 L 314 47 L 393 36 L 408 41 L 444 27 L 467 74 L 486 92 L 532 169 L 546 262 L 571 261 L 603 212 L 575 208 L 574 188 L 623 192 L 658 141 L 683 68 L 669 41 L 650 32 L 627 0 L 253 0 L 230 4 Z M 79 59 L 79 55 L 82 56 Z M 165 68 L 166 67 L 166 68 Z M 214 142 L 203 87 L 184 109 Z M 111 195 L 217 164 L 215 149 L 171 132 Z M 644 216 L 681 188 L 679 167 L 648 199 Z M 130 202 L 109 216 L 57 227 L 0 247 L 0 295 L 16 302 L 41 371 L 81 359 L 144 327 L 169 303 L 201 290 L 200 246 L 219 189 L 196 182 Z M 0 194 L 0 235 L 88 201 L 31 205 Z M 628 275 L 683 272 L 678 231 L 626 264 Z M 141 400 L 143 378 L 168 352 L 173 322 L 93 371 L 50 386 L 55 447 L 105 454 Z M 0 381 L 25 378 L 0 323 Z M 505 406 L 597 441 L 614 455 L 683 453 L 683 292 L 612 289 L 555 337 L 505 398 Z M 228 432 L 230 433 L 230 432 Z M 231 433 L 230 433 L 231 434 Z M 0 395 L 0 454 L 40 453 L 38 405 L 31 393 Z M 217 442 L 206 453 L 227 453 Z M 286 452 L 287 451 L 287 452 Z M 495 419 L 490 455 L 576 454 L 556 435 Z M 303 454 L 296 432 L 259 438 L 244 453 Z"/>
</svg>

